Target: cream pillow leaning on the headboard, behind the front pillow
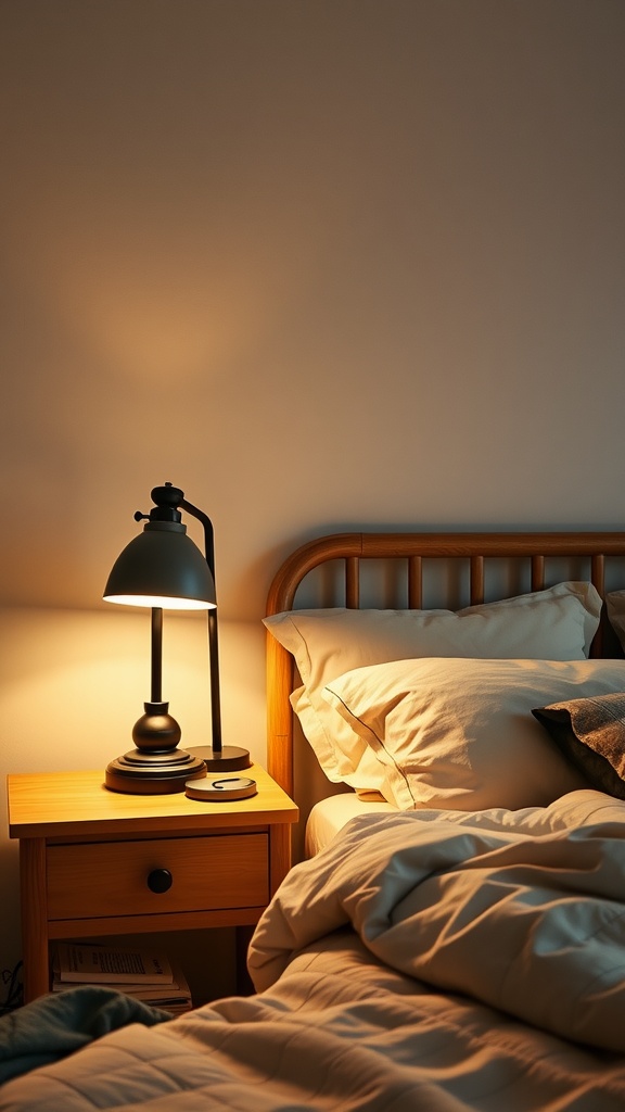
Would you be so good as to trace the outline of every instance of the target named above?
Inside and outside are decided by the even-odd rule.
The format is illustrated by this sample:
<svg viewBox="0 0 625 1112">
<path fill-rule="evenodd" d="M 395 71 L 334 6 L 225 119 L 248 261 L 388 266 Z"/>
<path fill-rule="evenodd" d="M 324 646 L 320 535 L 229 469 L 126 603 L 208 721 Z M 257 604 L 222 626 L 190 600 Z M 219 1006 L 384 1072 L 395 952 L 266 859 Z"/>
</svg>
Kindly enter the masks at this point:
<svg viewBox="0 0 625 1112">
<path fill-rule="evenodd" d="M 264 620 L 296 659 L 302 686 L 292 693 L 291 705 L 321 768 L 335 783 L 375 790 L 371 754 L 323 698 L 329 679 L 364 665 L 419 656 L 584 659 L 601 607 L 592 584 L 560 583 L 457 613 L 337 607 L 287 610 Z"/>
</svg>

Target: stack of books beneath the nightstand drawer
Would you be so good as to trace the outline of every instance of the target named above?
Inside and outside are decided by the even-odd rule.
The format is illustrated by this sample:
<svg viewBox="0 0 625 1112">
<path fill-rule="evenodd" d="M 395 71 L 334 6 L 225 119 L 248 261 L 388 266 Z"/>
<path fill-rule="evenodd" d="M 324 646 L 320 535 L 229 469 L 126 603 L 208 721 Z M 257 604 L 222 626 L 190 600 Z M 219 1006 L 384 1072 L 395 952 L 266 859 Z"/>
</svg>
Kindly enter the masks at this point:
<svg viewBox="0 0 625 1112">
<path fill-rule="evenodd" d="M 52 959 L 52 992 L 78 984 L 106 985 L 173 1015 L 192 1007 L 182 970 L 158 951 L 59 942 Z"/>
</svg>

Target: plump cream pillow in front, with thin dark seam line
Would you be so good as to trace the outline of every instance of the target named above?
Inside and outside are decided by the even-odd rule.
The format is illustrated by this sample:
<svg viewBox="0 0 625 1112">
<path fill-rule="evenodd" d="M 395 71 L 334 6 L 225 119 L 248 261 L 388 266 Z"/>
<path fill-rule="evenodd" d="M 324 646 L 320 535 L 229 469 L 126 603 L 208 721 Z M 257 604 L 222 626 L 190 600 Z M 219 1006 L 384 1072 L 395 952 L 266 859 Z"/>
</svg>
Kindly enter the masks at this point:
<svg viewBox="0 0 625 1112">
<path fill-rule="evenodd" d="M 403 810 L 544 806 L 587 787 L 535 707 L 625 689 L 625 661 L 416 659 L 357 668 L 325 697 L 383 766 Z"/>
</svg>

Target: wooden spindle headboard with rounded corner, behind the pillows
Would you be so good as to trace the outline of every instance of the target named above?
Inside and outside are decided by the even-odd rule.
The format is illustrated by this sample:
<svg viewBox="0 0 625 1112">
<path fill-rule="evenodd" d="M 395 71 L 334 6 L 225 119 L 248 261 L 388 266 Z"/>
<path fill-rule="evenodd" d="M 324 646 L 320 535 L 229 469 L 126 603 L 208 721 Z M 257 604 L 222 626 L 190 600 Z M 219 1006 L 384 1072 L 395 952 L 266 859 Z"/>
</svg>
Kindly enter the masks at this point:
<svg viewBox="0 0 625 1112">
<path fill-rule="evenodd" d="M 389 603 L 367 598 L 361 603 L 363 562 L 380 562 L 381 567 L 400 567 L 394 576 L 404 597 Z M 464 599 L 448 598 L 436 605 L 457 609 L 459 606 L 506 598 L 524 590 L 540 590 L 564 579 L 591 579 L 602 598 L 606 589 L 625 586 L 625 533 L 340 533 L 319 537 L 297 548 L 277 572 L 267 598 L 267 614 L 294 608 L 296 594 L 315 569 L 331 566 L 333 599 L 324 597 L 324 606 L 360 605 L 373 607 L 420 609 L 428 605 L 426 568 L 430 560 L 445 566 L 462 566 L 453 575 L 454 589 L 462 585 Z M 514 569 L 507 584 L 524 583 L 513 589 L 489 593 L 488 567 L 502 572 Z M 557 568 L 554 579 L 549 568 Z M 337 574 L 338 570 L 338 574 Z M 388 574 L 380 572 L 385 590 Z M 499 583 L 502 576 L 499 576 Z M 370 589 L 370 584 L 367 584 Z M 324 584 L 327 594 L 328 583 Z M 381 592 L 380 592 L 381 597 Z M 306 603 L 309 606 L 308 603 Z M 431 604 L 429 604 L 431 605 Z M 605 619 L 593 642 L 593 656 L 615 654 L 615 644 L 606 635 Z M 290 654 L 267 635 L 267 762 L 271 776 L 292 795 L 294 753 L 292 712 L 289 695 L 294 688 L 294 666 Z"/>
</svg>

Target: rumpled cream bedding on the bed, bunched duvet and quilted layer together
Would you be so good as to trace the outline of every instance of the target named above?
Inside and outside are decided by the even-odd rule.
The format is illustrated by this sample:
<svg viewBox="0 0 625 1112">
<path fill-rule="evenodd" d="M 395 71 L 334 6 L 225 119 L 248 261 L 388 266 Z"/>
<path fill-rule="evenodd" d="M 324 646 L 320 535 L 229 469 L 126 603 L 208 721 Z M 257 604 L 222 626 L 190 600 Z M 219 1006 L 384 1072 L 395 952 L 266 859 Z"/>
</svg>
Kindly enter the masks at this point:
<svg viewBox="0 0 625 1112">
<path fill-rule="evenodd" d="M 617 1112 L 624 901 L 625 804 L 599 793 L 355 820 L 259 924 L 259 995 L 116 1031 L 0 1112 Z"/>
</svg>

